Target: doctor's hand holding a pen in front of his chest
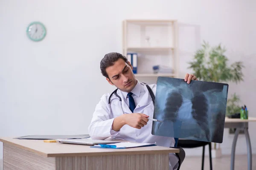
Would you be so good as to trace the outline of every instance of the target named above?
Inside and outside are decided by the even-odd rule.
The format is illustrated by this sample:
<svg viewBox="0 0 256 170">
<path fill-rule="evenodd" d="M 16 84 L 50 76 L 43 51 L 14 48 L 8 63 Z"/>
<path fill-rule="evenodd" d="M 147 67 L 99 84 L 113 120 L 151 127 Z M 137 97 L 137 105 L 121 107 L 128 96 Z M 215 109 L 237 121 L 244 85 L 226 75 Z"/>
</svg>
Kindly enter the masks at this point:
<svg viewBox="0 0 256 170">
<path fill-rule="evenodd" d="M 141 127 L 144 127 L 144 125 L 147 125 L 148 122 L 148 115 L 145 115 L 143 113 L 130 113 L 130 114 L 124 114 L 124 121 L 125 124 L 141 129 Z"/>
</svg>

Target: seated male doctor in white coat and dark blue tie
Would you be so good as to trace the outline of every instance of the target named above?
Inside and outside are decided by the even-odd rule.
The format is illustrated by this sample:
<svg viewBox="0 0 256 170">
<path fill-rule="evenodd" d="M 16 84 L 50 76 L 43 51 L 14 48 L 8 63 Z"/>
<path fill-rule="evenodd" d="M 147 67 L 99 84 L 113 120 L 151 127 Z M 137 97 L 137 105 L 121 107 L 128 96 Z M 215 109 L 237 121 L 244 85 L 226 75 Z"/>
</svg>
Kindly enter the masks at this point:
<svg viewBox="0 0 256 170">
<path fill-rule="evenodd" d="M 88 127 L 92 139 L 123 139 L 140 143 L 154 143 L 164 147 L 173 147 L 174 138 L 151 134 L 154 104 L 145 84 L 137 80 L 133 67 L 119 53 L 109 53 L 100 62 L 102 75 L 118 90 L 116 94 L 104 94 L 93 113 Z M 185 81 L 198 80 L 193 74 L 186 74 Z M 154 95 L 157 85 L 149 85 Z M 109 103 L 110 102 L 110 103 Z M 169 154 L 169 170 L 178 167 L 178 158 Z"/>
</svg>

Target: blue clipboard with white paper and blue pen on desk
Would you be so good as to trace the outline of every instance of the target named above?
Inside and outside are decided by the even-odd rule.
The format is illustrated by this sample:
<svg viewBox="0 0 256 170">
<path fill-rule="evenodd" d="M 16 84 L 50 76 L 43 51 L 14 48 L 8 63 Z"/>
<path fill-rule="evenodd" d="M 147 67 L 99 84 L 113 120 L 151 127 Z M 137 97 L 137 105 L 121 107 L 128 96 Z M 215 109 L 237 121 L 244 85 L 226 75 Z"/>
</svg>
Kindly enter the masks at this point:
<svg viewBox="0 0 256 170">
<path fill-rule="evenodd" d="M 121 143 L 115 143 L 115 144 L 97 144 L 91 147 L 97 147 L 97 148 L 113 148 L 113 149 L 125 149 L 125 148 L 131 148 L 131 147 L 144 147 L 144 146 L 155 146 L 154 144 L 149 143 L 131 143 L 131 142 L 121 142 Z"/>
</svg>

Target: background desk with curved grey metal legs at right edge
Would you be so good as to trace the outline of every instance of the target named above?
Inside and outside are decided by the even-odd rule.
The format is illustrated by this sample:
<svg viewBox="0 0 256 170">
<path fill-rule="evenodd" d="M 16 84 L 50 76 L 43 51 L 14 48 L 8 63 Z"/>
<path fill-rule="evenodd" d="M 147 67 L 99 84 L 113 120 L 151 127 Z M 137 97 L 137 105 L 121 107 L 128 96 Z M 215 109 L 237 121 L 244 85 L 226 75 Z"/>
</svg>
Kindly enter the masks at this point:
<svg viewBox="0 0 256 170">
<path fill-rule="evenodd" d="M 256 118 L 249 117 L 249 119 L 230 119 L 225 118 L 225 128 L 236 128 L 235 136 L 232 143 L 231 150 L 231 166 L 230 170 L 234 170 L 235 165 L 235 151 L 236 151 L 236 142 L 240 130 L 244 130 L 246 144 L 247 144 L 247 162 L 248 170 L 252 170 L 252 147 L 250 143 L 250 136 L 248 133 L 248 122 L 256 122 Z"/>
</svg>

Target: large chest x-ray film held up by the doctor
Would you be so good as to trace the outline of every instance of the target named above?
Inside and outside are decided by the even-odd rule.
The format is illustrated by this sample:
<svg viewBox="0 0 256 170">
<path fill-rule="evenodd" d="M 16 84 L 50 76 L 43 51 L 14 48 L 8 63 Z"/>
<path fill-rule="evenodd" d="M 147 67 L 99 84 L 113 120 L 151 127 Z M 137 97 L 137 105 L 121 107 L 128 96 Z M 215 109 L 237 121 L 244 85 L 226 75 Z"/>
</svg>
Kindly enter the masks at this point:
<svg viewBox="0 0 256 170">
<path fill-rule="evenodd" d="M 228 84 L 158 77 L 152 134 L 222 143 Z"/>
</svg>

